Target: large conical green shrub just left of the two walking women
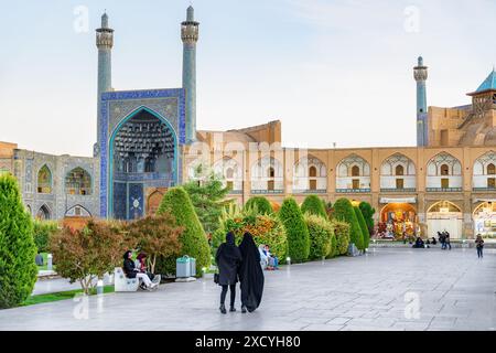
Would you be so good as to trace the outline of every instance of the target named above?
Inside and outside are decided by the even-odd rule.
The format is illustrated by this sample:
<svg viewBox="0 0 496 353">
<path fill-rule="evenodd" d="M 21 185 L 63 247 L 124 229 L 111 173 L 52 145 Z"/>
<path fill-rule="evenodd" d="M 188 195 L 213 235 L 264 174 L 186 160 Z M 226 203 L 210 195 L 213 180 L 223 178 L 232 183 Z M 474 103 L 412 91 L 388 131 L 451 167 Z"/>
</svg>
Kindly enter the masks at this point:
<svg viewBox="0 0 496 353">
<path fill-rule="evenodd" d="M 211 252 L 205 232 L 186 191 L 181 186 L 169 189 L 157 213 L 159 215 L 171 213 L 175 217 L 176 225 L 184 227 L 180 236 L 181 255 L 196 259 L 196 275 L 201 276 L 202 268 L 211 266 Z"/>
</svg>

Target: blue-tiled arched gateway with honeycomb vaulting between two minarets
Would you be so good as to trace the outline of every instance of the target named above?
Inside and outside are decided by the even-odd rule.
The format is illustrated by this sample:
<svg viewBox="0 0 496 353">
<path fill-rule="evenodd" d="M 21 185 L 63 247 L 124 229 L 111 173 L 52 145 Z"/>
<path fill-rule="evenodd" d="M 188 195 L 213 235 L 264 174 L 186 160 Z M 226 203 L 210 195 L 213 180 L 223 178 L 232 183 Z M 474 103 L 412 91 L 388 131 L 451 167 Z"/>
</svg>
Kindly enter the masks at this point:
<svg viewBox="0 0 496 353">
<path fill-rule="evenodd" d="M 164 193 L 182 179 L 184 90 L 104 93 L 101 106 L 100 216 L 142 217 L 157 208 L 153 191 Z"/>
</svg>

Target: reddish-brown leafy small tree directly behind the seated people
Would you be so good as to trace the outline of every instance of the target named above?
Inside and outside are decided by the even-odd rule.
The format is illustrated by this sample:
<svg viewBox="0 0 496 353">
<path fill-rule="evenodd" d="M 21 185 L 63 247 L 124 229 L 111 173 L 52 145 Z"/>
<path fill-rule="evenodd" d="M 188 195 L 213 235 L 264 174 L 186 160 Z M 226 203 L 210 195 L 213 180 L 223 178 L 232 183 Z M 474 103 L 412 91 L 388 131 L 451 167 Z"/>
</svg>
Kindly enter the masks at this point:
<svg viewBox="0 0 496 353">
<path fill-rule="evenodd" d="M 176 226 L 170 213 L 147 216 L 130 223 L 127 227 L 129 236 L 138 242 L 138 248 L 148 256 L 150 270 L 155 272 L 157 258 L 177 257 L 181 250 L 180 235 L 184 227 Z"/>
</svg>

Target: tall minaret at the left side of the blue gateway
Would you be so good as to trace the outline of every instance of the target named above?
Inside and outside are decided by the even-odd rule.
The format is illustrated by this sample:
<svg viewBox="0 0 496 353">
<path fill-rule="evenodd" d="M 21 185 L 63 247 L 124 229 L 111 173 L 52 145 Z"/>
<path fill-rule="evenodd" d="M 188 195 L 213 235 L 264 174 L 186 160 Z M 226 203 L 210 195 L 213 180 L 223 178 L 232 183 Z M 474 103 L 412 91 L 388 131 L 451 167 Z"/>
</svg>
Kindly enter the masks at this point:
<svg viewBox="0 0 496 353">
<path fill-rule="evenodd" d="M 101 15 L 101 28 L 96 30 L 96 44 L 98 47 L 98 96 L 97 96 L 97 148 L 94 149 L 94 154 L 98 156 L 98 148 L 100 146 L 100 97 L 101 93 L 111 89 L 112 77 L 112 46 L 114 46 L 114 30 L 108 26 L 108 15 Z"/>
</svg>

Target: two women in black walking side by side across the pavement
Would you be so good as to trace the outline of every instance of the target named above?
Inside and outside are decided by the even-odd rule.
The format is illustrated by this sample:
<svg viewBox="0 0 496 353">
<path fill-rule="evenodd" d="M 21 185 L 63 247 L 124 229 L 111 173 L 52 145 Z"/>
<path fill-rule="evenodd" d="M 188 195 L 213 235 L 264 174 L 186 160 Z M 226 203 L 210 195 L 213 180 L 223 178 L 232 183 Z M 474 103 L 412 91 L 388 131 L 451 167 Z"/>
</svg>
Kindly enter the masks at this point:
<svg viewBox="0 0 496 353">
<path fill-rule="evenodd" d="M 257 248 L 251 234 L 245 233 L 238 247 L 235 235 L 227 233 L 226 243 L 220 244 L 215 256 L 218 267 L 216 282 L 222 287 L 219 310 L 223 314 L 227 313 L 225 301 L 228 289 L 230 291 L 229 311 L 236 311 L 238 280 L 241 289 L 241 312 L 252 312 L 260 306 L 265 281 L 262 266 L 260 266 L 261 254 L 265 253 L 261 248 Z"/>
</svg>

